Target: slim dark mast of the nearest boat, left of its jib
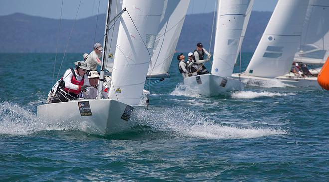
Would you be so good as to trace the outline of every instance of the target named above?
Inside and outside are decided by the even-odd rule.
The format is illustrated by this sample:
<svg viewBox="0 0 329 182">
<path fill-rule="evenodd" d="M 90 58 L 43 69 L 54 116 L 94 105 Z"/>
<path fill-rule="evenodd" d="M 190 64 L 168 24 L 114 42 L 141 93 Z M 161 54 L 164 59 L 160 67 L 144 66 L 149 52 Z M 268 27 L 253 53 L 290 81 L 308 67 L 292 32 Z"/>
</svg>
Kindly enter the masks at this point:
<svg viewBox="0 0 329 182">
<path fill-rule="evenodd" d="M 108 37 L 108 26 L 110 22 L 110 9 L 111 9 L 111 0 L 108 0 L 108 5 L 107 5 L 107 14 L 106 14 L 106 24 L 105 24 L 105 37 L 104 37 L 104 52 L 103 52 L 103 57 L 102 57 L 102 66 L 101 66 L 101 71 L 100 71 L 100 76 L 99 76 L 99 84 L 98 84 L 98 91 L 97 91 L 97 99 L 102 98 L 102 92 L 103 92 L 103 83 L 104 83 L 104 60 L 106 58 L 106 44 L 107 44 L 107 37 Z"/>
</svg>

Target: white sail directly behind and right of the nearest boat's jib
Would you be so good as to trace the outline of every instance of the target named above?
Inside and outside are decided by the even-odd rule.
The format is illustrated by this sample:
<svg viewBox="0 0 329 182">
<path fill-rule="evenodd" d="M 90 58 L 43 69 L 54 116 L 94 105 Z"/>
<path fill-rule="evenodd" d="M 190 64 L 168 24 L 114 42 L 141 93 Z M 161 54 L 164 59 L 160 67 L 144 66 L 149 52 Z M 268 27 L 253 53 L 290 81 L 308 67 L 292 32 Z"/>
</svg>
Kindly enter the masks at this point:
<svg viewBox="0 0 329 182">
<path fill-rule="evenodd" d="M 183 27 L 190 0 L 165 0 L 159 31 L 153 49 L 149 76 L 166 74 Z"/>
</svg>

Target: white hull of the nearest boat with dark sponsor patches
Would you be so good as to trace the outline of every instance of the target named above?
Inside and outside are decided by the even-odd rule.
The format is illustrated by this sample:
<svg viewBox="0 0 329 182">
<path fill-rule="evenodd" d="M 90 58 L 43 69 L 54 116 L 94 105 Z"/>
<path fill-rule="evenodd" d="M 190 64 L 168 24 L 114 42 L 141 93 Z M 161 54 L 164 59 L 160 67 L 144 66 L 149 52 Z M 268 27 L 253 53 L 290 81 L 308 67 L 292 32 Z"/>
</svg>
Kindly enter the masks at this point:
<svg viewBox="0 0 329 182">
<path fill-rule="evenodd" d="M 132 110 L 133 107 L 112 99 L 84 99 L 40 105 L 37 116 L 61 125 L 84 123 L 87 133 L 109 135 L 131 128 L 127 120 Z"/>
</svg>

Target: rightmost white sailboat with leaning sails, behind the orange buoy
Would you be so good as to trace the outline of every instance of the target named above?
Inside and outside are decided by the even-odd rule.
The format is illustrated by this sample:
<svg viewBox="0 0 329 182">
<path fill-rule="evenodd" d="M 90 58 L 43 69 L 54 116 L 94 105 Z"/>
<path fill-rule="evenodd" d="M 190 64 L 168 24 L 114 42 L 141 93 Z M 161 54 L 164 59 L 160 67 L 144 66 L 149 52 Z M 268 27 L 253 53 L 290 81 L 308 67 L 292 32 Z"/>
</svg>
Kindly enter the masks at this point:
<svg viewBox="0 0 329 182">
<path fill-rule="evenodd" d="M 312 76 L 307 77 L 290 69 L 293 61 L 324 63 L 329 49 L 328 18 L 328 0 L 279 0 L 246 71 L 232 77 L 247 84 L 277 79 L 291 86 L 319 88 L 321 68 L 310 70 Z"/>
</svg>

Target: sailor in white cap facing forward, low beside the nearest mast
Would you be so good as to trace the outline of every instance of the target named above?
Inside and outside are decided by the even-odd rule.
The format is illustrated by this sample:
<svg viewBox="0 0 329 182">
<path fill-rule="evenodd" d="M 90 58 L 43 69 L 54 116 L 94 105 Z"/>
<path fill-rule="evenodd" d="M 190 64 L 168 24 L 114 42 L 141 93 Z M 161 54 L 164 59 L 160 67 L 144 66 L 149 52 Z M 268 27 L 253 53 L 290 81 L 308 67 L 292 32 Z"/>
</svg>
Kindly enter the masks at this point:
<svg viewBox="0 0 329 182">
<path fill-rule="evenodd" d="M 98 94 L 98 81 L 99 81 L 99 73 L 96 70 L 92 70 L 88 74 L 88 79 L 91 87 L 86 88 L 86 92 L 81 92 L 82 98 L 90 98 L 95 99 L 97 98 Z M 107 98 L 107 92 L 103 91 L 102 96 Z"/>
</svg>

